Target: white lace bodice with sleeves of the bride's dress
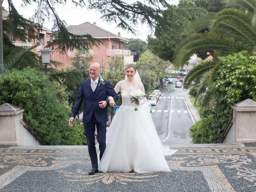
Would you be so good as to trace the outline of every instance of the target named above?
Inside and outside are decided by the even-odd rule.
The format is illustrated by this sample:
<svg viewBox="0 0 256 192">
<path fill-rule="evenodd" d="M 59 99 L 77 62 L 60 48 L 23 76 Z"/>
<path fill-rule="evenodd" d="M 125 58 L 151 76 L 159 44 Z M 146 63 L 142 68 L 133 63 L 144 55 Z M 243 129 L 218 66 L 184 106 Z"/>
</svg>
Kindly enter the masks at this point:
<svg viewBox="0 0 256 192">
<path fill-rule="evenodd" d="M 131 104 L 130 102 L 130 92 L 137 89 L 142 90 L 145 94 L 144 86 L 141 82 L 128 83 L 126 80 L 122 80 L 118 82 L 114 88 L 116 93 L 121 92 L 122 106 L 135 106 L 134 103 Z M 146 98 L 144 98 L 143 100 L 140 100 L 139 105 L 144 104 L 145 101 L 146 101 Z"/>
</svg>

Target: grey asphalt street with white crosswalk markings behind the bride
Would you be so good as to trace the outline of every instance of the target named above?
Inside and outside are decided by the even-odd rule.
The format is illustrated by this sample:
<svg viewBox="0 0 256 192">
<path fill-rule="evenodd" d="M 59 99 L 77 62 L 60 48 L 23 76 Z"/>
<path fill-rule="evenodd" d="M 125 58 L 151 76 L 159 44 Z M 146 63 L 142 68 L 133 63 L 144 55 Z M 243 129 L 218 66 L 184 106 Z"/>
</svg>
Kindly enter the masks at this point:
<svg viewBox="0 0 256 192">
<path fill-rule="evenodd" d="M 176 78 L 172 78 L 175 83 Z M 153 106 L 152 119 L 163 144 L 190 144 L 189 128 L 194 124 L 184 96 L 188 91 L 166 84 L 169 92 L 162 92 Z"/>
</svg>

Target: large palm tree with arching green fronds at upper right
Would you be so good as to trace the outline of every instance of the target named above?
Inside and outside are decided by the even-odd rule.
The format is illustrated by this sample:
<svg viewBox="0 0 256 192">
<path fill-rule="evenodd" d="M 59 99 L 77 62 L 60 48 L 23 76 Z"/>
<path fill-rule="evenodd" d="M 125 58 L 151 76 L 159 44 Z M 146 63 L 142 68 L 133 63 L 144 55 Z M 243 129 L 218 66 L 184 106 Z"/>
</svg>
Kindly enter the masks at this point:
<svg viewBox="0 0 256 192">
<path fill-rule="evenodd" d="M 188 72 L 185 88 L 206 71 L 210 71 L 210 80 L 214 80 L 220 65 L 217 56 L 241 50 L 256 53 L 256 0 L 223 0 L 223 3 L 236 8 L 198 18 L 192 25 L 199 34 L 186 38 L 175 50 L 173 64 L 176 68 L 183 67 L 194 53 L 207 50 L 213 55 L 212 60 L 203 61 Z M 209 32 L 200 33 L 204 31 Z"/>
</svg>

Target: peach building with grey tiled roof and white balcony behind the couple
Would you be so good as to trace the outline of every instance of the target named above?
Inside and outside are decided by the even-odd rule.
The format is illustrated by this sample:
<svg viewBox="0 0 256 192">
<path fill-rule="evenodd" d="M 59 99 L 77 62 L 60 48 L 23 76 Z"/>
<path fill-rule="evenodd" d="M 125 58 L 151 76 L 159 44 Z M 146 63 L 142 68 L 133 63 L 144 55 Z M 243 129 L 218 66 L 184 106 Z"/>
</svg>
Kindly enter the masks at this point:
<svg viewBox="0 0 256 192">
<path fill-rule="evenodd" d="M 96 25 L 94 22 L 91 24 L 90 22 L 85 22 L 80 25 L 70 25 L 66 27 L 68 29 L 68 32 L 76 35 L 84 35 L 84 34 L 90 34 L 94 38 L 98 38 L 105 42 L 105 45 L 100 45 L 99 47 L 94 46 L 92 50 L 89 50 L 89 54 L 93 55 L 92 60 L 90 60 L 90 63 L 92 62 L 99 62 L 104 66 L 104 68 L 108 67 L 108 62 L 111 61 L 111 57 L 114 57 L 116 55 L 121 56 L 122 58 L 124 56 L 130 56 L 131 51 L 130 50 L 124 50 L 124 43 L 128 43 L 129 41 L 125 38 L 122 38 L 120 36 L 120 33 L 114 34 L 112 32 L 109 32 L 103 28 L 100 28 Z M 60 70 L 65 70 L 67 66 L 70 66 L 70 58 L 75 56 L 75 52 L 69 51 L 66 55 L 61 55 L 58 52 L 53 52 L 51 54 L 51 59 L 62 62 L 63 66 L 54 67 Z M 80 56 L 84 56 L 84 54 L 81 54 Z M 104 65 L 105 64 L 105 65 Z"/>
</svg>

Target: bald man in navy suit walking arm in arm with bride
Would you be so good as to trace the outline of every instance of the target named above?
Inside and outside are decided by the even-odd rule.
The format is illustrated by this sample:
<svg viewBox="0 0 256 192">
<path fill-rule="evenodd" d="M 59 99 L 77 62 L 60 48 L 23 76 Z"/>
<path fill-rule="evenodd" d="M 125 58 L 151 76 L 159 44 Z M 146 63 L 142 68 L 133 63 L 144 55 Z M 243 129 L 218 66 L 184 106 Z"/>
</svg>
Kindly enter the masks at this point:
<svg viewBox="0 0 256 192">
<path fill-rule="evenodd" d="M 89 175 L 98 172 L 98 159 L 95 147 L 95 125 L 97 128 L 97 141 L 100 148 L 100 159 L 106 148 L 106 126 L 108 121 L 109 100 L 108 96 L 112 96 L 115 101 L 118 96 L 110 82 L 99 77 L 100 64 L 95 62 L 90 65 L 90 78 L 81 82 L 80 90 L 74 104 L 69 125 L 73 126 L 73 120 L 78 114 L 82 101 L 84 99 L 83 122 L 84 131 L 87 138 L 88 151 L 92 162 L 92 170 Z"/>
</svg>

